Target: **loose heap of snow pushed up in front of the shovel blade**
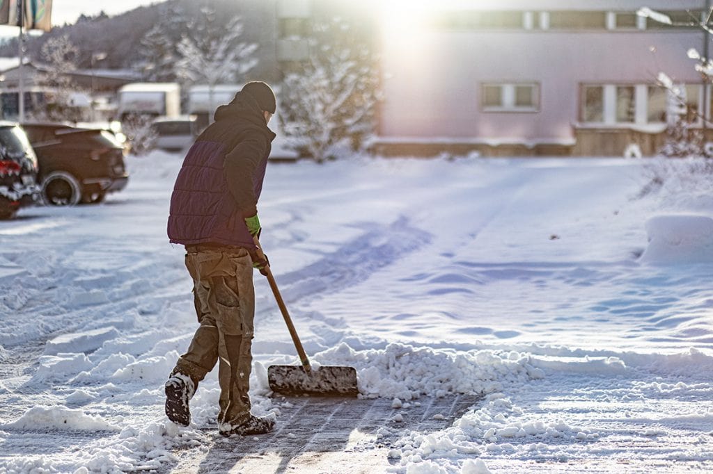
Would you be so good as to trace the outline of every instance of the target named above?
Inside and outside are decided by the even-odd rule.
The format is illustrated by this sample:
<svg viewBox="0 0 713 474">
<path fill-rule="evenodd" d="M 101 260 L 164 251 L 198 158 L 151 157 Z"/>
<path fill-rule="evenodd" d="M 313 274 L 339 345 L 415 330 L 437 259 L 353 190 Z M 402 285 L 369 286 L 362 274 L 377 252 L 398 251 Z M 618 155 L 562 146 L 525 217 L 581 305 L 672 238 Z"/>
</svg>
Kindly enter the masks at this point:
<svg viewBox="0 0 713 474">
<path fill-rule="evenodd" d="M 530 357 L 518 352 L 456 352 L 392 343 L 385 349 L 354 351 L 347 344 L 317 354 L 322 364 L 349 365 L 359 376 L 359 392 L 400 400 L 445 394 L 490 394 L 507 383 L 543 376 Z"/>
</svg>

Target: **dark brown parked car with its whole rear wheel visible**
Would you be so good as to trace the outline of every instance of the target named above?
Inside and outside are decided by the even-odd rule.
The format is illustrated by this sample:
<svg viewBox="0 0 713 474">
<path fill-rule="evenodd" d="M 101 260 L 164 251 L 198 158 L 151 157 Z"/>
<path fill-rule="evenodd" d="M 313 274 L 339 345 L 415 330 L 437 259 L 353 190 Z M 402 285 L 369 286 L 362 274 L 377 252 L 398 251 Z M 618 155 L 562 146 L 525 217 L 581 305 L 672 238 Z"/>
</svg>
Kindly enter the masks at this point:
<svg viewBox="0 0 713 474">
<path fill-rule="evenodd" d="M 54 206 L 101 202 L 124 189 L 124 147 L 108 130 L 23 125 L 39 162 L 42 198 Z"/>
</svg>

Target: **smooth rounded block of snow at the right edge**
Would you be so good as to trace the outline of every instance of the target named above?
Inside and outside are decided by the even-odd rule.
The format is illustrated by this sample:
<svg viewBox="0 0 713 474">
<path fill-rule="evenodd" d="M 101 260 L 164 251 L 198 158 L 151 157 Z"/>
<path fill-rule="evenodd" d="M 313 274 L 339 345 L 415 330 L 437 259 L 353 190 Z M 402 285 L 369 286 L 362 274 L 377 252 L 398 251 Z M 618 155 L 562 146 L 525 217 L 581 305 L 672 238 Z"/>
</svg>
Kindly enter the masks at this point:
<svg viewBox="0 0 713 474">
<path fill-rule="evenodd" d="M 645 263 L 676 265 L 713 262 L 713 219 L 707 216 L 656 216 L 646 222 Z"/>
</svg>

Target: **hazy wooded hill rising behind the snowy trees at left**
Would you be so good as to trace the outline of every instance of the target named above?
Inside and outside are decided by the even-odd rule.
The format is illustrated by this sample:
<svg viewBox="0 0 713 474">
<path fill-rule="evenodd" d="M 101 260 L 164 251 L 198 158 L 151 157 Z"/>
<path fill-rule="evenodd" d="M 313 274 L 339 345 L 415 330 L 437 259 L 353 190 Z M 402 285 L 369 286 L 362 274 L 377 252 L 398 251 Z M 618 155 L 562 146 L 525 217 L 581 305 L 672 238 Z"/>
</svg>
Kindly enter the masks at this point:
<svg viewBox="0 0 713 474">
<path fill-rule="evenodd" d="M 66 36 L 77 48 L 76 66 L 88 69 L 92 66 L 91 58 L 101 54 L 100 63 L 95 60 L 94 67 L 129 68 L 148 75 L 157 64 L 156 48 L 177 48 L 191 28 L 196 28 L 202 10 L 214 11 L 211 34 L 220 36 L 230 34 L 230 28 L 236 21 L 242 23 L 242 41 L 255 43 L 255 56 L 259 58 L 251 75 L 274 80 L 278 77 L 275 63 L 275 13 L 265 8 L 265 0 L 168 0 L 150 6 L 141 6 L 117 16 L 98 14 L 80 16 L 78 21 L 64 26 L 55 26 L 49 33 L 41 36 L 26 36 L 26 55 L 37 62 L 42 62 L 42 48 L 53 38 Z M 168 51 L 170 52 L 170 51 Z M 16 56 L 17 40 L 7 41 L 0 46 L 0 56 Z M 175 78 L 163 77 L 163 80 Z"/>
</svg>

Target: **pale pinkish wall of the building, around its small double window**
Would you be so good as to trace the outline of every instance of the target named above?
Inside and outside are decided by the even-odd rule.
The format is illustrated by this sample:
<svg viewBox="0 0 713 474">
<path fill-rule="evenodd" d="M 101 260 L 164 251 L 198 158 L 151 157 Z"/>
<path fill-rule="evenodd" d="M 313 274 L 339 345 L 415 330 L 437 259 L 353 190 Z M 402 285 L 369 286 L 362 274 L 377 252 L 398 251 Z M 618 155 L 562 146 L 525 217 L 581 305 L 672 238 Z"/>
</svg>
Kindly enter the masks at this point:
<svg viewBox="0 0 713 474">
<path fill-rule="evenodd" d="M 702 33 L 428 33 L 384 46 L 383 136 L 573 139 L 581 83 L 700 77 Z M 656 53 L 651 52 L 656 49 Z M 538 112 L 484 112 L 483 83 L 538 83 Z"/>
</svg>

